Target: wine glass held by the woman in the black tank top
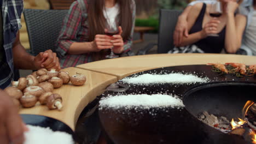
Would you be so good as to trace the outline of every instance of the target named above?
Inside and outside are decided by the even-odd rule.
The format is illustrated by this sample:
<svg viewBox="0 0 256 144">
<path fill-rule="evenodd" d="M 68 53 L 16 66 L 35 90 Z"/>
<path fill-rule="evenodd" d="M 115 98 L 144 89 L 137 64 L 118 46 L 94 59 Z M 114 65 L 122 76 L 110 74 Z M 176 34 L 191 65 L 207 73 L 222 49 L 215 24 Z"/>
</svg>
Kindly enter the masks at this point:
<svg viewBox="0 0 256 144">
<path fill-rule="evenodd" d="M 222 13 L 223 13 L 222 4 L 219 1 L 214 1 L 211 4 L 210 16 L 211 17 L 220 17 L 220 16 L 222 16 Z M 218 34 L 209 34 L 209 36 L 219 37 Z"/>
</svg>

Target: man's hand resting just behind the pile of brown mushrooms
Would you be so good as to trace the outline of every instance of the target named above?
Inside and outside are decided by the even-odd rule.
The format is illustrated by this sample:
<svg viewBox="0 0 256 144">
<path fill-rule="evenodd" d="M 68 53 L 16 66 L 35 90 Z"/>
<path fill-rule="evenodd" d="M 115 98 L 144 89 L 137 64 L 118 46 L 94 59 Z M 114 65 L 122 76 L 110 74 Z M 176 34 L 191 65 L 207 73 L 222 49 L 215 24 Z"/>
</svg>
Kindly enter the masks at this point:
<svg viewBox="0 0 256 144">
<path fill-rule="evenodd" d="M 36 57 L 34 57 L 33 62 L 34 62 L 34 66 L 37 69 L 45 68 L 48 70 L 51 70 L 51 69 L 56 69 L 56 71 L 60 70 L 59 58 L 56 56 L 56 53 L 51 50 L 40 52 Z"/>
</svg>

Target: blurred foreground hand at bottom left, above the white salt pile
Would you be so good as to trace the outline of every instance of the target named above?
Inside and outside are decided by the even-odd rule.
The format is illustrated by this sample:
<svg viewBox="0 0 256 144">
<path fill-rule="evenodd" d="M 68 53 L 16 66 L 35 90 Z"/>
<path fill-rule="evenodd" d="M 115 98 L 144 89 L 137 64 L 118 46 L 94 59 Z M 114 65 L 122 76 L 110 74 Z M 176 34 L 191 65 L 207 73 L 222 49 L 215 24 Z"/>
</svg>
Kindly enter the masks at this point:
<svg viewBox="0 0 256 144">
<path fill-rule="evenodd" d="M 1 144 L 22 144 L 25 124 L 9 95 L 0 89 L 0 141 Z"/>
</svg>

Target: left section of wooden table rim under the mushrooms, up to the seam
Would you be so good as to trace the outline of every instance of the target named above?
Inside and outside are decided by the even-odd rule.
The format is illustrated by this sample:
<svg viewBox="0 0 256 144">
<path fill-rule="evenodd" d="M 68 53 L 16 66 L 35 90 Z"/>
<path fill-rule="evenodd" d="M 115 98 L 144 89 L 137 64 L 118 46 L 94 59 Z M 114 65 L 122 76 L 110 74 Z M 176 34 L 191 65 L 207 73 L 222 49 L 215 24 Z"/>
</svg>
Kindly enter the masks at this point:
<svg viewBox="0 0 256 144">
<path fill-rule="evenodd" d="M 68 85 L 63 85 L 61 88 L 54 89 L 53 93 L 58 93 L 62 96 L 62 111 L 49 110 L 47 106 L 37 103 L 37 105 L 32 108 L 21 109 L 20 113 L 55 118 L 66 123 L 72 130 L 74 130 L 75 123 L 84 107 L 98 95 L 101 95 L 104 88 L 117 81 L 117 77 L 115 76 L 96 73 L 89 70 L 67 68 L 63 69 L 63 71 L 68 71 L 69 75 L 75 75 L 76 72 L 84 74 L 87 80 L 83 86 L 73 86 L 70 83 Z"/>
</svg>

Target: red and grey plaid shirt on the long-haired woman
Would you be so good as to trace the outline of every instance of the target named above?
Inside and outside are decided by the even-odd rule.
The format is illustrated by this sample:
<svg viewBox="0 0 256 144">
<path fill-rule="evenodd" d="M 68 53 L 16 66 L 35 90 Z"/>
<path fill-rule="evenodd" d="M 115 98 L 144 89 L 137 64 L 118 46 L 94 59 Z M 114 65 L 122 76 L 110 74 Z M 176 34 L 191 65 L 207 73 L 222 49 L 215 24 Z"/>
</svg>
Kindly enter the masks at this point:
<svg viewBox="0 0 256 144">
<path fill-rule="evenodd" d="M 78 0 L 73 2 L 71 8 L 63 21 L 62 30 L 57 40 L 57 53 L 60 58 L 61 68 L 75 67 L 75 65 L 92 62 L 92 52 L 81 55 L 70 55 L 68 49 L 74 42 L 89 42 L 89 26 L 88 26 L 88 0 Z M 135 2 L 132 1 L 132 33 L 129 39 L 124 41 L 124 52 L 131 50 L 132 35 L 135 23 Z"/>
</svg>

